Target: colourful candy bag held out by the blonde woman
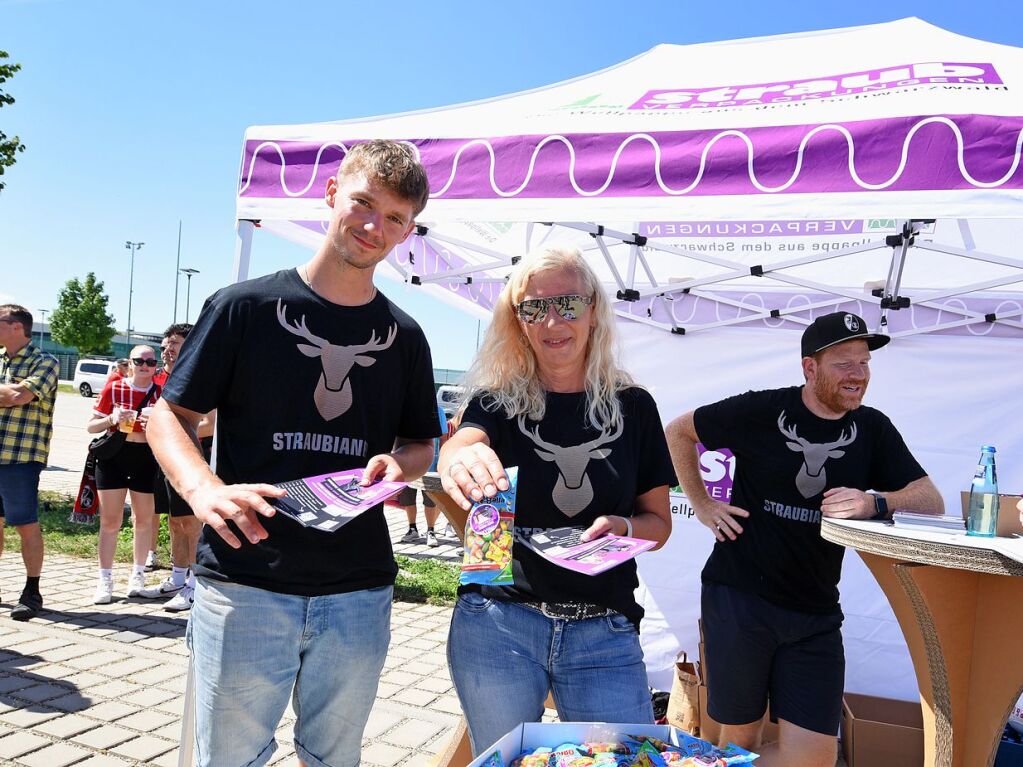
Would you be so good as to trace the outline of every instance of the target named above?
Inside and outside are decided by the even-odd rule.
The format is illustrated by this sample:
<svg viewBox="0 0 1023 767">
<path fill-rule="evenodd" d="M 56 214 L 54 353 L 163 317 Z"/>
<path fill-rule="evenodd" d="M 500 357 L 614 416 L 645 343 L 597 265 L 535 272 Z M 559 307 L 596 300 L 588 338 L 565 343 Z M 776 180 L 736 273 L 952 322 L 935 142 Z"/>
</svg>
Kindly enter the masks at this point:
<svg viewBox="0 0 1023 767">
<path fill-rule="evenodd" d="M 465 553 L 460 584 L 502 586 L 513 583 L 511 545 L 515 541 L 515 496 L 519 469 L 505 469 L 508 489 L 474 503 L 465 518 Z"/>
</svg>

